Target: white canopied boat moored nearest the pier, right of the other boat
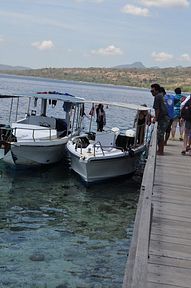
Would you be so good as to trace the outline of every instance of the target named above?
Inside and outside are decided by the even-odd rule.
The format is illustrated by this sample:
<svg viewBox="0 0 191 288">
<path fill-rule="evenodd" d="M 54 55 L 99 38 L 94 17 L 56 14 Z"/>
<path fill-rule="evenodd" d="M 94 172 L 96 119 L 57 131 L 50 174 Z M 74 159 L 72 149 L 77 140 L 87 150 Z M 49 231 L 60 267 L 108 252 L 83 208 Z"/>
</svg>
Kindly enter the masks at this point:
<svg viewBox="0 0 191 288">
<path fill-rule="evenodd" d="M 145 133 L 149 108 L 133 104 L 102 103 L 109 107 L 124 108 L 126 115 L 130 110 L 135 111 L 135 121 L 131 120 L 132 127 L 127 123 L 126 130 L 114 127 L 103 132 L 95 132 L 95 130 L 91 132 L 89 129 L 88 132 L 82 131 L 69 139 L 67 148 L 71 157 L 71 168 L 86 183 L 135 172 L 140 155 L 146 148 Z M 92 107 L 96 104 L 98 102 L 94 102 Z M 144 115 L 144 120 L 141 115 Z M 139 121 L 139 118 L 142 120 Z M 89 127 L 91 126 L 92 124 Z"/>
</svg>

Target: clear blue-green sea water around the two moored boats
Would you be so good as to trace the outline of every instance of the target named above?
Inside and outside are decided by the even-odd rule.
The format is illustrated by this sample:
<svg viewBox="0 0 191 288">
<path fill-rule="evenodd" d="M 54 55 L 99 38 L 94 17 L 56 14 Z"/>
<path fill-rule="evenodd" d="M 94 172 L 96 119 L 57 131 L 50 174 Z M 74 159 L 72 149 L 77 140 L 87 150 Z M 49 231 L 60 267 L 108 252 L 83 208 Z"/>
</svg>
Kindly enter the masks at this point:
<svg viewBox="0 0 191 288">
<path fill-rule="evenodd" d="M 148 106 L 153 100 L 136 88 L 0 75 L 0 94 L 37 91 Z M 4 123 L 9 106 L 0 101 Z M 106 115 L 125 127 L 123 113 Z M 122 287 L 140 183 L 138 171 L 86 187 L 67 163 L 14 170 L 0 162 L 0 287 Z"/>
</svg>

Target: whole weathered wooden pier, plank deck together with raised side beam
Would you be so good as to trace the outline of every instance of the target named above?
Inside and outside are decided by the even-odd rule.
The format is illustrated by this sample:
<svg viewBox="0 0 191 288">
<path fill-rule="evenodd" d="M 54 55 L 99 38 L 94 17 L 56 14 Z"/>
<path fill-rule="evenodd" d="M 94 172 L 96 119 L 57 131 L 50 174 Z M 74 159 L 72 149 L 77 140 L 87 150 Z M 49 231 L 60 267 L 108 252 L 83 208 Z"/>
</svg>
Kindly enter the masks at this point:
<svg viewBox="0 0 191 288">
<path fill-rule="evenodd" d="M 145 166 L 123 288 L 191 288 L 191 156 L 169 141 Z"/>
</svg>

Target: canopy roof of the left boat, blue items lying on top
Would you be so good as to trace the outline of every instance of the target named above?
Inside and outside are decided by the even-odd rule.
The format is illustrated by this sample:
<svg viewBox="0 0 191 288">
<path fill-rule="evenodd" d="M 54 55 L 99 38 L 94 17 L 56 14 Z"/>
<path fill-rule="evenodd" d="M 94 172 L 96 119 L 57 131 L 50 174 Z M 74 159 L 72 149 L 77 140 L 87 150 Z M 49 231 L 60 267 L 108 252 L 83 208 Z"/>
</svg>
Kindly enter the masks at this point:
<svg viewBox="0 0 191 288">
<path fill-rule="evenodd" d="M 80 97 L 76 97 L 69 93 L 61 93 L 57 91 L 45 91 L 45 92 L 36 92 L 36 93 L 21 93 L 21 94 L 0 94 L 0 98 L 20 98 L 20 97 L 28 97 L 28 98 L 38 98 L 38 99 L 47 99 L 47 100 L 60 100 L 64 102 L 70 103 L 83 103 L 84 99 Z"/>
</svg>

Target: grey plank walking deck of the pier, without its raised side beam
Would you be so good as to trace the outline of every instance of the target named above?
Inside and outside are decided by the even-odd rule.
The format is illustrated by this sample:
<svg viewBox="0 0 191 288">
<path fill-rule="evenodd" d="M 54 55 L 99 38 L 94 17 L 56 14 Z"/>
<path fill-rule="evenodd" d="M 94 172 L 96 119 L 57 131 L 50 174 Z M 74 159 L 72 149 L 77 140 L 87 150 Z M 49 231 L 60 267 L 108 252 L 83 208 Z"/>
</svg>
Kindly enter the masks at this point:
<svg viewBox="0 0 191 288">
<path fill-rule="evenodd" d="M 147 287 L 191 287 L 191 156 L 169 141 L 157 156 Z"/>
</svg>

